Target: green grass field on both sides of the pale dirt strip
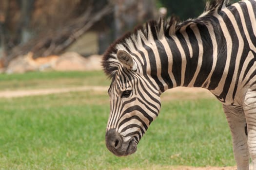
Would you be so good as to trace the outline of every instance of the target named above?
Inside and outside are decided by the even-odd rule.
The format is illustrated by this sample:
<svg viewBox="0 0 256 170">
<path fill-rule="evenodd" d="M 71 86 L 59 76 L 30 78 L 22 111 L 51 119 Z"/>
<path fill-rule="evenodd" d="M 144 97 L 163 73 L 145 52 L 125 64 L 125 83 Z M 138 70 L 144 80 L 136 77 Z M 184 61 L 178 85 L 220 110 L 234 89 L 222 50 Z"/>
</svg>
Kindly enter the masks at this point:
<svg viewBox="0 0 256 170">
<path fill-rule="evenodd" d="M 0 75 L 0 90 L 108 83 L 101 71 Z M 168 95 L 163 94 L 160 115 L 137 152 L 127 157 L 116 157 L 105 147 L 107 92 L 0 98 L 0 170 L 234 166 L 221 104 L 212 98 L 168 100 Z"/>
</svg>

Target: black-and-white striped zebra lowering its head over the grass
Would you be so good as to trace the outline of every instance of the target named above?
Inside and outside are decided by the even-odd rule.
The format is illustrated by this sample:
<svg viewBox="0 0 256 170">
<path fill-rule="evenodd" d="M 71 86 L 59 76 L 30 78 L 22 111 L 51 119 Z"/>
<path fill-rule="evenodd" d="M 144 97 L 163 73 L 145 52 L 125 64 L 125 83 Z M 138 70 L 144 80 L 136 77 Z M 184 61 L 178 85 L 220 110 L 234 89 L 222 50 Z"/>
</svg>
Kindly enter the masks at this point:
<svg viewBox="0 0 256 170">
<path fill-rule="evenodd" d="M 112 80 L 106 147 L 135 153 L 158 117 L 160 95 L 177 86 L 202 87 L 222 103 L 237 170 L 256 170 L 256 0 L 211 0 L 203 13 L 148 21 L 115 41 L 102 67 Z"/>
</svg>

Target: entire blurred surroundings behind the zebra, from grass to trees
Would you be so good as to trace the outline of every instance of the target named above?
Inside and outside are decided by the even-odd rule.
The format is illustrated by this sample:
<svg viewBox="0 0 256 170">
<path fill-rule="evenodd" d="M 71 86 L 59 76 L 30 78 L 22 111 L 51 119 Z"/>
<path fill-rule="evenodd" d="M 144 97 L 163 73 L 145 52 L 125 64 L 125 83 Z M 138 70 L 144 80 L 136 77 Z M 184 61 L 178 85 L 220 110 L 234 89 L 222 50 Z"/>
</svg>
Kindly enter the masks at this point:
<svg viewBox="0 0 256 170">
<path fill-rule="evenodd" d="M 222 105 L 205 89 L 162 94 L 160 116 L 137 153 L 116 157 L 105 146 L 111 82 L 100 66 L 104 51 L 138 24 L 171 15 L 186 20 L 204 6 L 0 0 L 0 170 L 235 170 Z"/>
</svg>

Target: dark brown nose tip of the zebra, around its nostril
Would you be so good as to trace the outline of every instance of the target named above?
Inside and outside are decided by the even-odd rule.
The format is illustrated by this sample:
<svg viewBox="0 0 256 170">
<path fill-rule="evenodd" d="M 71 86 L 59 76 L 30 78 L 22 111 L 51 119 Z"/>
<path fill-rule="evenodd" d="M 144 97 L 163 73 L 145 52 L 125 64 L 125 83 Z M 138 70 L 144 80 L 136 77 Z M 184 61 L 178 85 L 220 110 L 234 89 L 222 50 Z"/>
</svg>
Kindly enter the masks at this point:
<svg viewBox="0 0 256 170">
<path fill-rule="evenodd" d="M 120 148 L 122 145 L 122 138 L 118 134 L 118 132 L 116 132 L 115 129 L 111 129 L 107 131 L 105 139 L 106 139 L 106 146 L 111 152 L 115 153 L 115 151 L 118 148 Z"/>
</svg>

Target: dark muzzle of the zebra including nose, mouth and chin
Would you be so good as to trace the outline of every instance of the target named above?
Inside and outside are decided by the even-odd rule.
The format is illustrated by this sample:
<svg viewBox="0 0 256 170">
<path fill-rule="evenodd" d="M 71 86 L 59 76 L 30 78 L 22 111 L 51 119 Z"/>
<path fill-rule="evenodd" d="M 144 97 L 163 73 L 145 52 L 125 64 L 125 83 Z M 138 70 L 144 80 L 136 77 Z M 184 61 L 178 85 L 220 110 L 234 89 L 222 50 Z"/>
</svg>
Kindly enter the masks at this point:
<svg viewBox="0 0 256 170">
<path fill-rule="evenodd" d="M 105 140 L 108 150 L 117 156 L 126 156 L 137 150 L 137 142 L 134 138 L 124 141 L 123 136 L 118 134 L 115 129 L 106 132 Z"/>
</svg>

